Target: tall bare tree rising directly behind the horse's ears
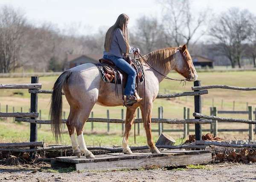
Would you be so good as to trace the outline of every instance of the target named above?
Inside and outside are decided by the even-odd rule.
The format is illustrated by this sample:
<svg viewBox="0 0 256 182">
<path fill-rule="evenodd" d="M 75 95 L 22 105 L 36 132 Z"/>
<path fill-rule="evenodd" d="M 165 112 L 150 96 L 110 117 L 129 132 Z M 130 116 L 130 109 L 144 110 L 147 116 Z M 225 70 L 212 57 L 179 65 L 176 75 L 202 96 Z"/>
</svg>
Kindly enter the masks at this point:
<svg viewBox="0 0 256 182">
<path fill-rule="evenodd" d="M 196 17 L 191 11 L 191 0 L 159 0 L 163 5 L 163 23 L 166 44 L 170 47 L 186 43 L 189 46 L 192 38 L 197 42 L 205 31 L 199 32 L 204 26 L 209 9 Z"/>
</svg>

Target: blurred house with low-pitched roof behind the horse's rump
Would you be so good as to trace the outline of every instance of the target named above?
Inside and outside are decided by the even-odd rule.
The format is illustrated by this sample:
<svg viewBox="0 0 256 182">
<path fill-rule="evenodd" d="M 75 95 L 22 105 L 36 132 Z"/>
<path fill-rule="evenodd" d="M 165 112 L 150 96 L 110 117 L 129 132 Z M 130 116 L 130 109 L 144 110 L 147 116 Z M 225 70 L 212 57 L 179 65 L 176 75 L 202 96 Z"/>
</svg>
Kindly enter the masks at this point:
<svg viewBox="0 0 256 182">
<path fill-rule="evenodd" d="M 84 63 L 99 63 L 102 54 L 68 54 L 67 63 L 69 68 L 73 68 Z"/>
</svg>

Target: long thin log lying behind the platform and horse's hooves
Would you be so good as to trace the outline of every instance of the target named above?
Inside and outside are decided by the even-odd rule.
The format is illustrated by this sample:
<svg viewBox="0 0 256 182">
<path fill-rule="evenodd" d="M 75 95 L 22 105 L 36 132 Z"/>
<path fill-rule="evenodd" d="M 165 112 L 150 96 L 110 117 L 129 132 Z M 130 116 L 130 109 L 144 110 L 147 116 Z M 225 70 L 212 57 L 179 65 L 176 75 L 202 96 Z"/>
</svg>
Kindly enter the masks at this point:
<svg viewBox="0 0 256 182">
<path fill-rule="evenodd" d="M 181 148 L 205 148 L 204 145 L 156 145 L 157 148 L 167 148 L 167 149 L 181 149 Z M 131 151 L 145 150 L 148 149 L 148 145 L 139 146 L 139 147 L 130 147 Z M 32 149 L 20 149 L 20 148 L 0 148 L 0 151 L 7 152 L 40 152 L 40 151 L 52 151 L 52 150 L 66 150 L 72 149 L 71 145 L 61 145 L 61 146 L 49 146 L 44 148 L 32 148 Z M 111 152 L 122 152 L 122 148 L 113 148 L 113 147 L 102 147 L 102 146 L 88 146 L 88 150 L 105 150 Z"/>
</svg>

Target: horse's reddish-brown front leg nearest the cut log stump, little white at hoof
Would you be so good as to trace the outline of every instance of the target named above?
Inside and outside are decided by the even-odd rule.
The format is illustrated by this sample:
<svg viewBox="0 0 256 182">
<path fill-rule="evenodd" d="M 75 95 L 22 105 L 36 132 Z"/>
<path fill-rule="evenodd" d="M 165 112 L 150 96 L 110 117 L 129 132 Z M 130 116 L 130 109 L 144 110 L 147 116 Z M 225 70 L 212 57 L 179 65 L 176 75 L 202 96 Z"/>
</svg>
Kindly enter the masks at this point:
<svg viewBox="0 0 256 182">
<path fill-rule="evenodd" d="M 151 113 L 152 113 L 152 102 L 146 102 L 144 106 L 144 102 L 140 102 L 140 109 L 142 113 L 142 118 L 144 121 L 144 128 L 147 135 L 148 147 L 152 154 L 160 153 L 157 147 L 154 145 L 152 133 L 151 133 Z M 145 107 L 145 116 L 144 116 L 144 107 Z"/>
</svg>

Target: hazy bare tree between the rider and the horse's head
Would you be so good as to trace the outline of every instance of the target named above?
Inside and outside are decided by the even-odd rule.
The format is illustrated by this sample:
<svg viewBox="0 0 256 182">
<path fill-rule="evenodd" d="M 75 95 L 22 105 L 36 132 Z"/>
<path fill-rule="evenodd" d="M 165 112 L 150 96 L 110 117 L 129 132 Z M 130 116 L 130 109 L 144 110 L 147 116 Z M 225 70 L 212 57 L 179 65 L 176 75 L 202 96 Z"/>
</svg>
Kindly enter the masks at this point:
<svg viewBox="0 0 256 182">
<path fill-rule="evenodd" d="M 163 33 L 162 25 L 154 17 L 139 18 L 132 29 L 131 42 L 138 46 L 143 53 L 153 51 L 160 34 Z"/>
</svg>

